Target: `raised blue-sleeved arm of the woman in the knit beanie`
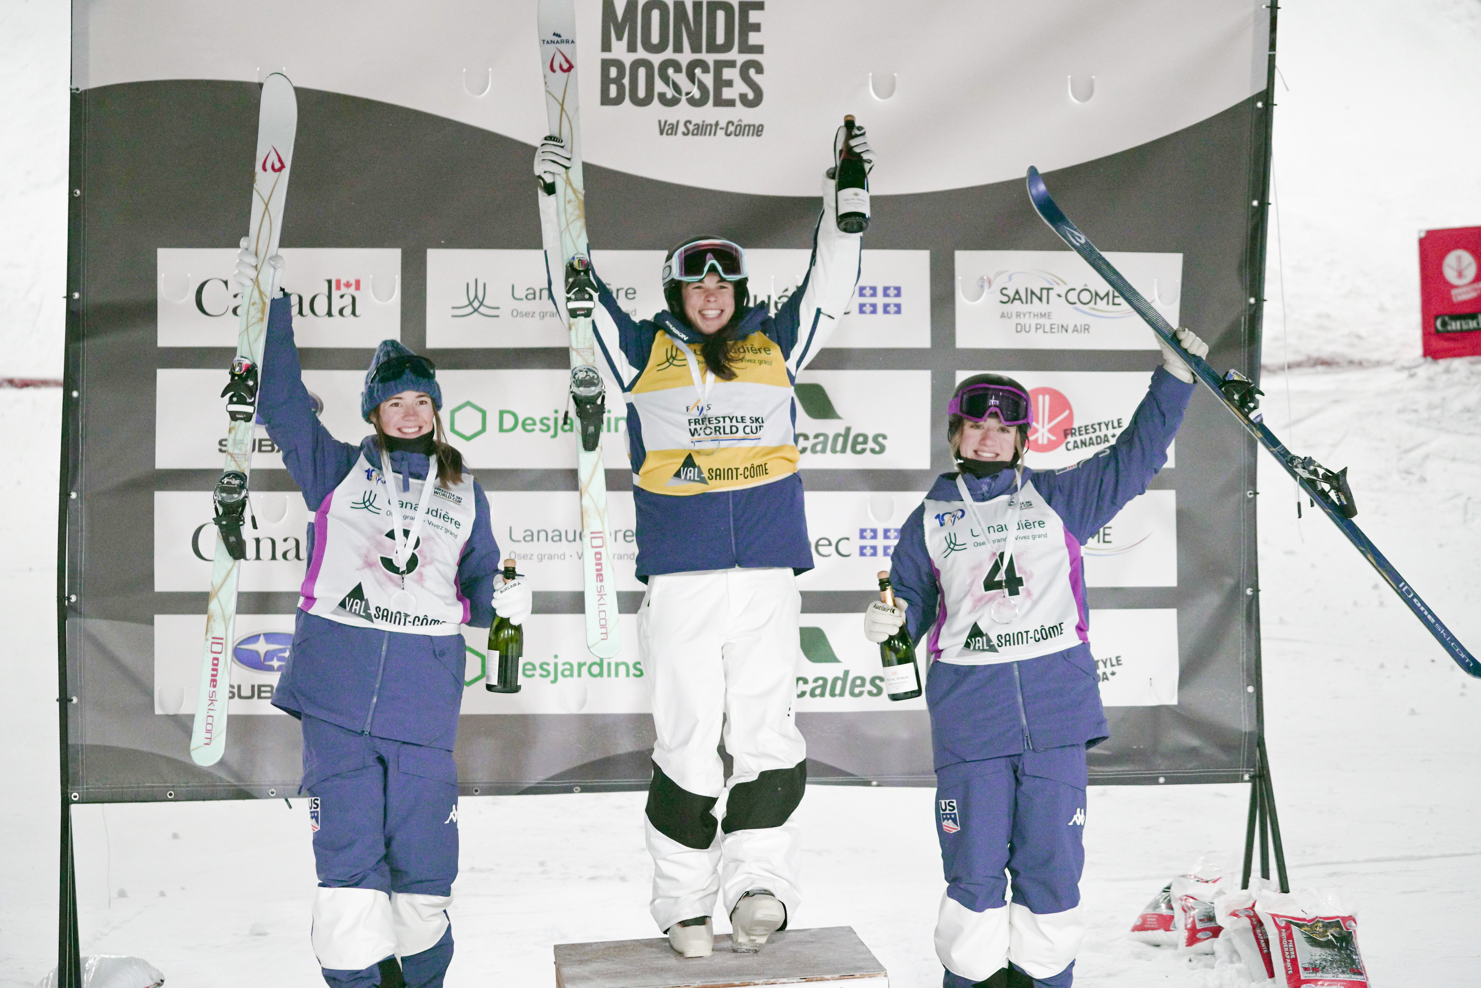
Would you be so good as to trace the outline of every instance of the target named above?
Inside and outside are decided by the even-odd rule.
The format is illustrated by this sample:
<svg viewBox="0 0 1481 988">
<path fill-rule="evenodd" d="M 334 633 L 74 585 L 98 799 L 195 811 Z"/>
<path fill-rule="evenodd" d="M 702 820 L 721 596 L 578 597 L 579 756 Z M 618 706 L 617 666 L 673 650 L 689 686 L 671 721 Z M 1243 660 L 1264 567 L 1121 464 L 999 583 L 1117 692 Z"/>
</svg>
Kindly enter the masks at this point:
<svg viewBox="0 0 1481 988">
<path fill-rule="evenodd" d="M 268 308 L 258 418 L 283 452 L 283 465 L 304 492 L 308 510 L 317 511 L 354 468 L 360 447 L 336 440 L 314 415 L 293 344 L 293 299 L 286 295 Z"/>
</svg>

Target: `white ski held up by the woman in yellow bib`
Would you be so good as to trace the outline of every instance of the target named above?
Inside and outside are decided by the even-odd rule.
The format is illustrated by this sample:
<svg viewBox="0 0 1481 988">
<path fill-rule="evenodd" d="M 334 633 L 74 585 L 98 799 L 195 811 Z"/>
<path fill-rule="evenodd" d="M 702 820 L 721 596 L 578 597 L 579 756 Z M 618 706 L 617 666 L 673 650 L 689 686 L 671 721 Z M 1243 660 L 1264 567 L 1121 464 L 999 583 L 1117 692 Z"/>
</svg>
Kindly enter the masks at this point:
<svg viewBox="0 0 1481 988">
<path fill-rule="evenodd" d="M 607 475 L 601 467 L 606 388 L 597 370 L 591 314 L 597 286 L 586 246 L 586 194 L 581 178 L 581 98 L 576 84 L 575 0 L 539 0 L 541 71 L 549 133 L 570 150 L 570 170 L 557 181 L 561 270 L 570 327 L 570 397 L 581 425 L 576 481 L 581 487 L 581 569 L 586 598 L 586 647 L 600 659 L 622 646 L 616 575 L 607 538 Z"/>
</svg>

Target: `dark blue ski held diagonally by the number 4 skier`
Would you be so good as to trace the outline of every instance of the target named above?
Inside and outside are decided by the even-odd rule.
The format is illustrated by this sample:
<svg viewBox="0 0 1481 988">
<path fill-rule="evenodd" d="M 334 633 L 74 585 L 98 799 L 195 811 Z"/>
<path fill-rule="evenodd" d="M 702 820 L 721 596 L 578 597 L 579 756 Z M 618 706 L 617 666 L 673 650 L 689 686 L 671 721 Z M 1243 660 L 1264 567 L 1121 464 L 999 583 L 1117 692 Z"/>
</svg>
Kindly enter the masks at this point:
<svg viewBox="0 0 1481 988">
<path fill-rule="evenodd" d="M 1275 434 L 1262 421 L 1257 397 L 1262 391 L 1256 388 L 1248 378 L 1241 375 L 1238 370 L 1231 370 L 1220 378 L 1219 373 L 1208 366 L 1208 361 L 1201 357 L 1194 357 L 1186 350 L 1179 347 L 1177 339 L 1173 336 L 1173 326 L 1163 318 L 1161 313 L 1152 308 L 1151 302 L 1142 298 L 1140 292 L 1131 287 L 1131 284 L 1121 277 L 1120 271 L 1111 267 L 1111 262 L 1106 261 L 1099 250 L 1096 250 L 1096 246 L 1090 243 L 1090 238 L 1080 233 L 1080 230 L 1075 228 L 1075 224 L 1069 222 L 1065 212 L 1054 204 L 1053 198 L 1050 198 L 1049 190 L 1044 187 L 1044 179 L 1035 167 L 1028 170 L 1028 197 L 1034 201 L 1034 209 L 1038 210 L 1040 218 L 1049 224 L 1050 230 L 1053 230 L 1060 240 L 1068 243 L 1075 253 L 1084 258 L 1090 267 L 1096 270 L 1096 274 L 1105 278 L 1106 283 L 1126 301 L 1126 304 L 1136 310 L 1137 316 L 1146 320 L 1146 324 L 1152 327 L 1152 332 L 1182 354 L 1183 360 L 1186 360 L 1188 366 L 1194 369 L 1198 379 L 1208 385 L 1208 390 L 1213 391 L 1220 401 L 1223 401 L 1225 407 L 1229 409 L 1234 418 L 1240 419 L 1240 424 L 1244 425 L 1250 435 L 1260 440 L 1260 446 L 1268 449 L 1271 456 L 1280 461 L 1281 467 L 1286 468 L 1286 473 L 1288 473 L 1296 483 L 1300 484 L 1302 490 L 1306 492 L 1308 498 L 1311 498 L 1314 504 L 1321 505 L 1321 510 L 1328 518 L 1331 518 L 1331 523 L 1348 536 L 1348 541 L 1357 547 L 1358 553 L 1363 554 L 1363 558 L 1373 563 L 1373 569 L 1376 569 L 1388 585 L 1394 588 L 1394 593 L 1398 594 L 1405 604 L 1408 604 L 1408 609 L 1414 612 L 1414 616 L 1425 622 L 1425 627 L 1429 628 L 1429 634 L 1435 635 L 1435 640 L 1444 646 L 1445 652 L 1450 653 L 1450 658 L 1456 661 L 1456 665 L 1468 674 L 1481 678 L 1481 662 L 1478 662 L 1474 655 L 1466 652 L 1466 647 L 1460 644 L 1456 635 L 1450 634 L 1450 628 L 1445 627 L 1445 622 L 1442 622 L 1440 616 L 1429 609 L 1429 604 L 1426 604 L 1420 595 L 1414 593 L 1414 588 L 1410 587 L 1403 576 L 1400 576 L 1398 570 L 1394 569 L 1394 564 L 1389 563 L 1383 554 L 1379 553 L 1377 547 L 1373 545 L 1368 536 L 1363 533 L 1363 529 L 1352 523 L 1352 518 L 1358 514 L 1358 508 L 1352 502 L 1352 490 L 1348 487 L 1346 467 L 1339 471 L 1330 471 L 1311 456 L 1297 456 L 1286 449 L 1286 444 L 1275 438 Z"/>
</svg>

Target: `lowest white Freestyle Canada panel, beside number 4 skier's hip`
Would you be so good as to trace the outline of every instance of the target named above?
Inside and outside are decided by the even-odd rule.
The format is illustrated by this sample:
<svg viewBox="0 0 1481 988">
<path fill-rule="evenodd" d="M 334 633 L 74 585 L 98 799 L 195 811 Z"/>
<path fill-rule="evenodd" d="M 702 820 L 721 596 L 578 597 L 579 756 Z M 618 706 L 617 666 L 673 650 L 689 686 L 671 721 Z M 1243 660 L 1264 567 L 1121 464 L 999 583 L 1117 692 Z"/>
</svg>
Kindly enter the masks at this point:
<svg viewBox="0 0 1481 988">
<path fill-rule="evenodd" d="M 1106 707 L 1177 704 L 1177 610 L 1090 610 L 1090 652 Z"/>
</svg>

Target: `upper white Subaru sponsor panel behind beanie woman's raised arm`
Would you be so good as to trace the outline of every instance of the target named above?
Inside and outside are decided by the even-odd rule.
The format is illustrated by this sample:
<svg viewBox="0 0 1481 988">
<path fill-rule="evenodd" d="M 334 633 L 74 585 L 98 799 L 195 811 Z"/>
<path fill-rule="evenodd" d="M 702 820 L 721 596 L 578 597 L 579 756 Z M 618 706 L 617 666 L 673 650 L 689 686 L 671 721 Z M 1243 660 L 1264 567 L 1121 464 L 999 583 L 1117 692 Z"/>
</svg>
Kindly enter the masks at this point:
<svg viewBox="0 0 1481 988">
<path fill-rule="evenodd" d="M 235 341 L 233 341 L 233 345 Z M 366 358 L 369 363 L 369 358 Z M 449 372 L 438 372 L 438 381 Z M 360 418 L 363 370 L 305 370 L 304 387 L 314 398 L 318 421 L 345 443 L 358 443 L 373 430 Z M 160 369 L 154 372 L 154 467 L 156 470 L 219 470 L 227 455 L 227 409 L 221 388 L 227 370 Z M 446 422 L 446 394 L 443 385 Z M 253 470 L 281 470 L 283 456 L 267 428 L 253 430 Z M 575 456 L 575 453 L 572 455 Z M 575 464 L 576 461 L 572 459 Z"/>
</svg>

